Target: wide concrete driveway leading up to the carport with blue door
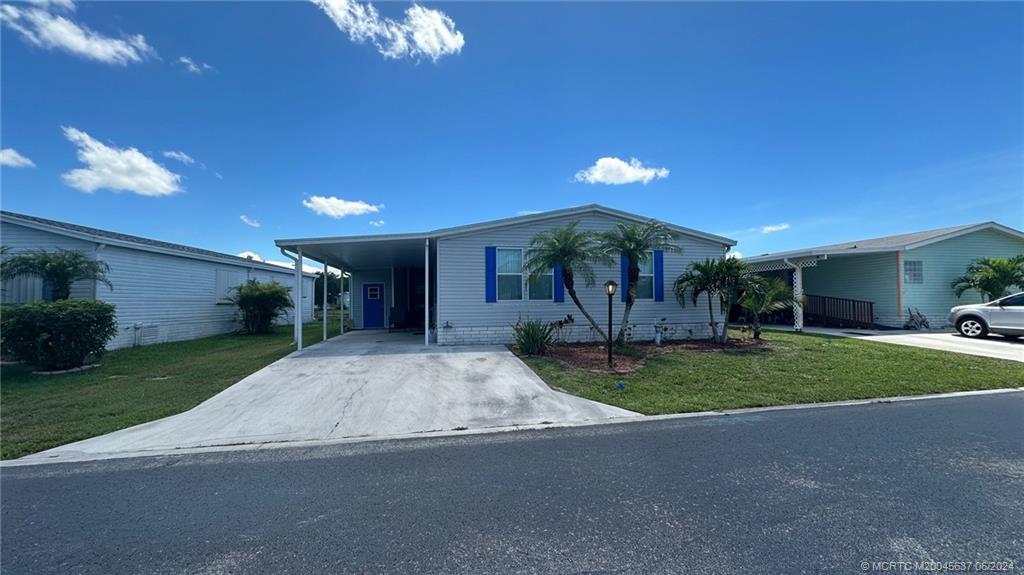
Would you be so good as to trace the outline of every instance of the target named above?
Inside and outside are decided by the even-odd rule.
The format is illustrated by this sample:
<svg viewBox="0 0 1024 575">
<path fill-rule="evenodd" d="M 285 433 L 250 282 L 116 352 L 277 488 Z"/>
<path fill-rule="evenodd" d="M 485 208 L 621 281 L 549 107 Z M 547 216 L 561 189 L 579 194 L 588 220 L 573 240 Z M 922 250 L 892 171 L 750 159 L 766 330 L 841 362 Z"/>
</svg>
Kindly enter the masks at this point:
<svg viewBox="0 0 1024 575">
<path fill-rule="evenodd" d="M 637 415 L 556 392 L 501 346 L 423 346 L 353 331 L 291 355 L 194 409 L 23 459 L 331 441 Z"/>
</svg>

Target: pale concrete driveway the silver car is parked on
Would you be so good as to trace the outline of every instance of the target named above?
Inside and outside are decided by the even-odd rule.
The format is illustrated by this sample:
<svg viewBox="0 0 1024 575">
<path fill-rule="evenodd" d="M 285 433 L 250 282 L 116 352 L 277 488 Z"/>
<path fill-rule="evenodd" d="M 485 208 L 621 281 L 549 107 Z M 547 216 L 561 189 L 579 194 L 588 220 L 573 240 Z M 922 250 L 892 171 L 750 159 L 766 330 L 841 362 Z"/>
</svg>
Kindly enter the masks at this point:
<svg viewBox="0 0 1024 575">
<path fill-rule="evenodd" d="M 793 331 L 793 326 L 766 325 L 765 329 Z M 806 326 L 804 327 L 804 333 L 820 334 L 835 338 L 854 338 L 884 344 L 897 344 L 1024 362 L 1024 341 L 1010 340 L 1000 336 L 989 336 L 981 340 L 971 340 L 949 330 L 915 331 L 909 329 L 858 329 L 853 327 L 840 329 Z"/>
</svg>

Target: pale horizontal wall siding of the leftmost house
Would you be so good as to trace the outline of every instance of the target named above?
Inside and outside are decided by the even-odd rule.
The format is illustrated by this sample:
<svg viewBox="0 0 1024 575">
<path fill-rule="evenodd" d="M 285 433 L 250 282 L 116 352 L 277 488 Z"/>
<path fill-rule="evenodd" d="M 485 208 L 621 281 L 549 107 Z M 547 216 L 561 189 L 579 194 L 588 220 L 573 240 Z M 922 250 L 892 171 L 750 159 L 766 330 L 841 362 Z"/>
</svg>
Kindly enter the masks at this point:
<svg viewBox="0 0 1024 575">
<path fill-rule="evenodd" d="M 73 298 L 93 298 L 114 304 L 117 308 L 118 334 L 108 349 L 148 345 L 162 342 L 193 340 L 233 331 L 240 327 L 238 309 L 223 303 L 217 291 L 218 271 L 221 276 L 243 281 L 255 278 L 294 284 L 291 270 L 281 272 L 241 265 L 214 263 L 194 258 L 155 254 L 141 250 L 105 246 L 66 237 L 48 231 L 35 230 L 16 224 L 4 224 L 4 245 L 12 252 L 28 249 L 52 250 L 65 248 L 95 254 L 110 266 L 108 278 L 113 290 L 90 284 L 89 291 L 73 291 Z M 304 277 L 303 318 L 312 320 L 311 277 Z M 77 284 L 76 284 L 77 286 Z M 222 286 L 221 286 L 222 288 Z M 92 291 L 94 290 L 94 292 Z M 280 319 L 292 321 L 292 314 Z"/>
</svg>

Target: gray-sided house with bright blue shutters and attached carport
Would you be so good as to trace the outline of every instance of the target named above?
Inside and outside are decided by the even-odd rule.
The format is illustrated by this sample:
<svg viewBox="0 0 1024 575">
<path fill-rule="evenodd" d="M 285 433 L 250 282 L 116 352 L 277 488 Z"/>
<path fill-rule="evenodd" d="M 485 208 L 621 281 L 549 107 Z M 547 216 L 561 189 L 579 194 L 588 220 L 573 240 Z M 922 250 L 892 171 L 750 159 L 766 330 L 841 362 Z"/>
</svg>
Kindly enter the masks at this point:
<svg viewBox="0 0 1024 575">
<path fill-rule="evenodd" d="M 530 281 L 523 273 L 530 239 L 539 231 L 579 222 L 579 228 L 609 230 L 618 222 L 649 218 L 591 205 L 423 233 L 279 239 L 282 250 L 341 269 L 352 286 L 352 323 L 357 329 L 408 328 L 440 345 L 508 343 L 519 319 L 574 319 L 559 337 L 597 338 L 566 296 L 560 274 Z M 651 339 L 655 324 L 674 338 L 703 338 L 710 331 L 707 303 L 682 308 L 672 293 L 690 262 L 723 258 L 735 241 L 667 224 L 679 234 L 681 253 L 656 253 L 641 270 L 640 293 L 630 316 L 632 335 Z M 577 282 L 587 310 L 604 323 L 603 284 L 621 284 L 623 266 L 595 267 L 593 286 Z M 615 296 L 614 328 L 622 317 Z M 716 306 L 717 307 L 717 306 Z M 721 317 L 717 318 L 721 321 Z"/>
</svg>

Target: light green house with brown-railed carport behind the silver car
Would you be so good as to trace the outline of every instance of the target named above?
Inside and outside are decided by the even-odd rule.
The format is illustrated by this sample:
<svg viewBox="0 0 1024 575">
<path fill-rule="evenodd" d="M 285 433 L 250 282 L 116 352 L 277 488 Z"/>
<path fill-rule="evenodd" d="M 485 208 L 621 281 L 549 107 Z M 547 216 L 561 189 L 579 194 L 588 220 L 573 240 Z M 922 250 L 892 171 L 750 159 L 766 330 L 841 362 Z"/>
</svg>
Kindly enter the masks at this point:
<svg viewBox="0 0 1024 575">
<path fill-rule="evenodd" d="M 951 286 L 973 260 L 1019 254 L 1024 254 L 1024 232 L 985 222 L 743 261 L 757 272 L 792 277 L 794 291 L 806 296 L 805 309 L 794 310 L 798 328 L 804 315 L 808 324 L 902 327 L 909 309 L 927 316 L 932 327 L 942 327 L 949 308 L 982 301 L 974 291 L 957 298 Z"/>
</svg>

